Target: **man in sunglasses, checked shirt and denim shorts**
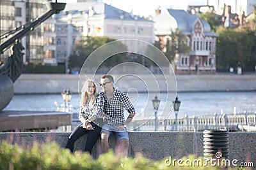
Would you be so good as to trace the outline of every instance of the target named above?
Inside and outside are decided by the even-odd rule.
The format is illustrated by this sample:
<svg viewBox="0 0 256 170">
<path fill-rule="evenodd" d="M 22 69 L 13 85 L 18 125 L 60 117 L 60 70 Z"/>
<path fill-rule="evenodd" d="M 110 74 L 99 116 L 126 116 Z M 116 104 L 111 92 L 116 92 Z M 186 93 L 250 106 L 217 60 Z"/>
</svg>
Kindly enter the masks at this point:
<svg viewBox="0 0 256 170">
<path fill-rule="evenodd" d="M 129 136 L 127 125 L 135 116 L 135 109 L 129 97 L 124 92 L 113 87 L 114 79 L 111 75 L 104 75 L 100 79 L 100 94 L 104 96 L 104 125 L 101 130 L 102 151 L 108 152 L 108 139 L 111 134 L 115 134 L 118 144 L 122 148 L 125 157 L 128 155 Z M 129 113 L 125 120 L 124 108 Z"/>
</svg>

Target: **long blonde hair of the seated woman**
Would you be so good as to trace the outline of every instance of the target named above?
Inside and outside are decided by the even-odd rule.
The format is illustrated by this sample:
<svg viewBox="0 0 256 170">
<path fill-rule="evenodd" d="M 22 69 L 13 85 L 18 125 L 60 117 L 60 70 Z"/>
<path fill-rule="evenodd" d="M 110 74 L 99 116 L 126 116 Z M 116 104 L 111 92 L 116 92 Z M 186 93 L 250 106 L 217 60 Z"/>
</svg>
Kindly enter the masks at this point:
<svg viewBox="0 0 256 170">
<path fill-rule="evenodd" d="M 92 82 L 94 87 L 95 87 L 95 90 L 93 92 L 93 96 L 90 100 L 90 105 L 91 106 L 93 106 L 95 97 L 97 96 L 97 87 L 96 87 L 94 81 L 93 80 L 84 81 L 83 89 L 81 90 L 81 105 L 82 105 L 83 109 L 84 109 L 84 106 L 86 104 L 86 100 L 88 99 L 88 93 L 86 92 L 86 90 L 88 89 L 88 85 L 89 85 L 90 82 Z"/>
</svg>

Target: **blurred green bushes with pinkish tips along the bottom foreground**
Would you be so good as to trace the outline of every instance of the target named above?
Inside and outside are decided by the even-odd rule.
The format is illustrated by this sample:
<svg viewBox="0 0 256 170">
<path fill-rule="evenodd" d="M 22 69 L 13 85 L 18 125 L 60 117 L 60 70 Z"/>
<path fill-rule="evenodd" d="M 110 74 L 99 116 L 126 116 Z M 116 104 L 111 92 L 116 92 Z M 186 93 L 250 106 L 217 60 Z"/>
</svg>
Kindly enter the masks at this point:
<svg viewBox="0 0 256 170">
<path fill-rule="evenodd" d="M 168 159 L 168 158 L 167 158 Z M 202 159 L 195 155 L 183 157 L 182 160 Z M 201 166 L 167 166 L 166 159 L 155 161 L 150 160 L 141 153 L 136 153 L 134 157 L 120 158 L 113 151 L 104 153 L 98 159 L 93 159 L 87 152 L 76 151 L 70 153 L 68 149 L 60 148 L 55 142 L 33 143 L 33 145 L 12 145 L 7 141 L 0 143 L 0 169 L 95 169 L 95 170 L 115 170 L 115 169 L 223 169 L 217 167 Z"/>
</svg>

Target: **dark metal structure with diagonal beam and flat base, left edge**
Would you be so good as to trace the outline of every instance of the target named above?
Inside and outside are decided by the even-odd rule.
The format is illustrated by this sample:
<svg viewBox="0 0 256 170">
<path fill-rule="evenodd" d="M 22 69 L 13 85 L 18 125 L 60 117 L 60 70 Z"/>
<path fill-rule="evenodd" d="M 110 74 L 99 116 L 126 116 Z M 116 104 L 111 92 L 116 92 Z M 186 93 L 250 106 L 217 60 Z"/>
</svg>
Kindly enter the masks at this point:
<svg viewBox="0 0 256 170">
<path fill-rule="evenodd" d="M 45 111 L 3 111 L 12 101 L 13 83 L 19 78 L 23 71 L 24 47 L 20 39 L 24 38 L 35 27 L 42 24 L 47 18 L 64 10 L 65 3 L 50 3 L 51 9 L 42 17 L 35 18 L 31 22 L 18 28 L 13 28 L 10 32 L 5 32 L 1 38 L 6 39 L 0 45 L 0 53 L 12 47 L 13 54 L 0 66 L 0 132 L 26 132 L 26 131 L 49 131 L 60 126 L 69 127 L 72 122 L 72 115 L 65 112 L 45 112 Z"/>
</svg>

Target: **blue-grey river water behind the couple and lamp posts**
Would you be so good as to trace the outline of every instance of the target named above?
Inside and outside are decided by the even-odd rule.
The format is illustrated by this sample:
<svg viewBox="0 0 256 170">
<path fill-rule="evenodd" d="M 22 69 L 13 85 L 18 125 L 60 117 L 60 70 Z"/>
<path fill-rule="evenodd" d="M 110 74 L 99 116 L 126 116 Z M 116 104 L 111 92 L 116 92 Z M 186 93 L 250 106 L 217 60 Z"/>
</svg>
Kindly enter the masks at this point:
<svg viewBox="0 0 256 170">
<path fill-rule="evenodd" d="M 156 94 L 129 93 L 132 104 L 136 109 L 136 117 L 152 117 L 154 115 L 152 99 Z M 256 92 L 180 92 L 179 117 L 184 115 L 213 115 L 214 113 L 255 113 Z M 171 97 L 163 93 L 159 95 L 160 104 L 157 115 L 174 117 Z M 56 103 L 56 104 L 54 104 Z M 63 103 L 61 94 L 22 94 L 13 96 L 12 101 L 4 110 L 18 111 L 56 111 L 56 105 Z M 79 95 L 73 94 L 70 102 L 74 113 L 79 111 Z M 127 114 L 127 113 L 125 113 Z"/>
</svg>

